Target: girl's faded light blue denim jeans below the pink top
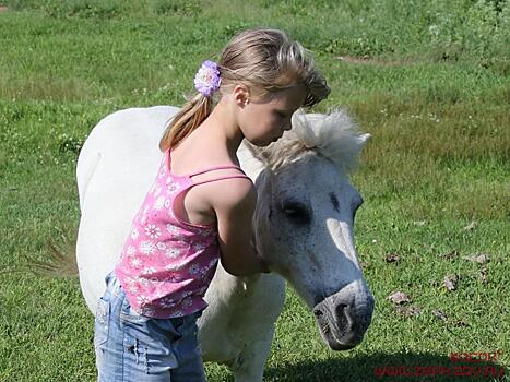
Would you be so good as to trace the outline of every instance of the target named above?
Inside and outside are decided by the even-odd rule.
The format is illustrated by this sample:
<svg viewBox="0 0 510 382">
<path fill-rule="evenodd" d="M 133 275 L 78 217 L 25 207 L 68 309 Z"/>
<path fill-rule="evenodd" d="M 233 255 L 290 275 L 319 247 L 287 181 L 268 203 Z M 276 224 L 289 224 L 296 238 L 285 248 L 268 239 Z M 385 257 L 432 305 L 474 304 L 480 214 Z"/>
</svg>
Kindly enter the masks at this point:
<svg viewBox="0 0 510 382">
<path fill-rule="evenodd" d="M 94 327 L 98 382 L 205 381 L 197 338 L 200 315 L 140 315 L 131 309 L 118 279 L 109 274 Z"/>
</svg>

